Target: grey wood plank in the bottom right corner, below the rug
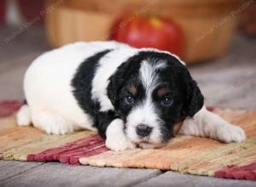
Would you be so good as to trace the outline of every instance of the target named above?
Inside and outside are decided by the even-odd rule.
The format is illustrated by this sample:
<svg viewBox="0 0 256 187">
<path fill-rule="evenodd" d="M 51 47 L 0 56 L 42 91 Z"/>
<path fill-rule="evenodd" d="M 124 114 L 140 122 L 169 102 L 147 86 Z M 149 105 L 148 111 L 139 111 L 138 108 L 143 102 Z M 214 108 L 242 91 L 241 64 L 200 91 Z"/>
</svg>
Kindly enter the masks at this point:
<svg viewBox="0 0 256 187">
<path fill-rule="evenodd" d="M 151 178 L 141 184 L 137 184 L 137 187 L 143 186 L 207 186 L 207 187 L 255 187 L 255 182 L 248 180 L 234 180 L 226 178 L 212 178 L 196 175 L 180 174 L 175 172 L 166 172 L 156 178 Z"/>
</svg>

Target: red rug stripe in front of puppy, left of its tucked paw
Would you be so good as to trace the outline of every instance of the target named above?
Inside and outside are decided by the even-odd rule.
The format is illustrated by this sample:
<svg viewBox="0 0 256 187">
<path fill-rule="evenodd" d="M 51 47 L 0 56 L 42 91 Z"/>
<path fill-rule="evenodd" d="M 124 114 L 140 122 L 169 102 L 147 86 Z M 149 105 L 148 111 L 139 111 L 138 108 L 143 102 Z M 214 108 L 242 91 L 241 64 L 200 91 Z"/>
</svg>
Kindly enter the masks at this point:
<svg viewBox="0 0 256 187">
<path fill-rule="evenodd" d="M 61 161 L 78 165 L 81 156 L 96 156 L 107 150 L 104 140 L 98 135 L 92 135 L 38 154 L 30 154 L 27 156 L 27 161 Z"/>
</svg>

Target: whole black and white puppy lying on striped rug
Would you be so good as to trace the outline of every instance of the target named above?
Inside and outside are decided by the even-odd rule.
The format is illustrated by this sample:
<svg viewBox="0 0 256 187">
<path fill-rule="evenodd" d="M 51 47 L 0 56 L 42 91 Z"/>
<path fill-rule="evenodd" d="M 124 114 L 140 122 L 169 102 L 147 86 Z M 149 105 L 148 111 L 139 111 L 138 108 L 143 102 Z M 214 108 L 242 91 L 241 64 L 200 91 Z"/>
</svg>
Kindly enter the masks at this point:
<svg viewBox="0 0 256 187">
<path fill-rule="evenodd" d="M 179 133 L 222 142 L 246 139 L 240 127 L 204 107 L 183 61 L 154 48 L 76 42 L 38 57 L 26 71 L 18 124 L 47 133 L 97 130 L 111 150 L 155 148 Z"/>
</svg>

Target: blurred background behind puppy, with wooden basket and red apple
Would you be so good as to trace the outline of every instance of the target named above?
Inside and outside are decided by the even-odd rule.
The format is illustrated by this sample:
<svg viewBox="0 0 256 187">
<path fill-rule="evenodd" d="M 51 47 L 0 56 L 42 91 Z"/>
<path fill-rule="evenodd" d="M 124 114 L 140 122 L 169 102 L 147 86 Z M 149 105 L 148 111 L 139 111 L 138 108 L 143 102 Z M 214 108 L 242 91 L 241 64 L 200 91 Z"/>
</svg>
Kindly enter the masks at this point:
<svg viewBox="0 0 256 187">
<path fill-rule="evenodd" d="M 1 0 L 0 100 L 24 99 L 39 54 L 116 40 L 180 56 L 210 106 L 256 109 L 254 0 Z"/>
</svg>

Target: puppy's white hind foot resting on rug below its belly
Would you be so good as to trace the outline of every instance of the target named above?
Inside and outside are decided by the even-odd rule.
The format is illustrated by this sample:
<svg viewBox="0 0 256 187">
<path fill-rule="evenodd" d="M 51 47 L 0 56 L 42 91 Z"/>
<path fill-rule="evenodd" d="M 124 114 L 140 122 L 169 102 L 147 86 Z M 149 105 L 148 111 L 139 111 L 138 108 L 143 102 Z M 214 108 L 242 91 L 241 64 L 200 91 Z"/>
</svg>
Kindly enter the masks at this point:
<svg viewBox="0 0 256 187">
<path fill-rule="evenodd" d="M 78 129 L 78 127 L 67 122 L 67 120 L 61 116 L 46 111 L 32 113 L 32 123 L 35 127 L 41 128 L 46 131 L 46 133 L 52 134 L 73 133 L 74 130 Z"/>
</svg>

